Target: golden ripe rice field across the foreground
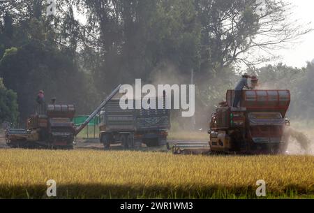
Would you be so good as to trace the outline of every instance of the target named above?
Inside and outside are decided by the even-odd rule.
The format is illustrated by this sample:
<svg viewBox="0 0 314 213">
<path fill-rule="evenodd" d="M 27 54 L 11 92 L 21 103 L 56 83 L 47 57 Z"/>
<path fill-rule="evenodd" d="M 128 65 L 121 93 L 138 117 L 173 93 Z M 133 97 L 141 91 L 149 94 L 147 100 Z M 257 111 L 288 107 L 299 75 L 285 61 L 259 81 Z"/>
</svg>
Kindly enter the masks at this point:
<svg viewBox="0 0 314 213">
<path fill-rule="evenodd" d="M 314 156 L 0 149 L 0 198 L 314 198 Z"/>
</svg>

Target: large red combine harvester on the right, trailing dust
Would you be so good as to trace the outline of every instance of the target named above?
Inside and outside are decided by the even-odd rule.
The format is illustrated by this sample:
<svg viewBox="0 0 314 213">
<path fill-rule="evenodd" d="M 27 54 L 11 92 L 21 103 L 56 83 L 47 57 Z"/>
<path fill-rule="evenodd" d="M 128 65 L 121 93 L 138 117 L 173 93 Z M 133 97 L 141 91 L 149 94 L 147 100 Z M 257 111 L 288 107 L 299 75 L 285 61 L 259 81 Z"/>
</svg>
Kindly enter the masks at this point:
<svg viewBox="0 0 314 213">
<path fill-rule="evenodd" d="M 209 147 L 213 153 L 281 154 L 287 149 L 285 118 L 290 105 L 287 89 L 243 90 L 233 108 L 234 90 L 211 115 Z"/>
</svg>

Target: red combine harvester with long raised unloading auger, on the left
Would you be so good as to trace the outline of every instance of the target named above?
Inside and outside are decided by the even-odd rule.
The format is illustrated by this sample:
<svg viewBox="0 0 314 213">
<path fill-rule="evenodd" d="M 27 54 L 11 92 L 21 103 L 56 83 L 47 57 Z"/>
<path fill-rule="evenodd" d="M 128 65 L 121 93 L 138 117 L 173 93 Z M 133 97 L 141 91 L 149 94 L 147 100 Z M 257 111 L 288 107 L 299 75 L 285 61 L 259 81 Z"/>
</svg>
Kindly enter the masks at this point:
<svg viewBox="0 0 314 213">
<path fill-rule="evenodd" d="M 27 119 L 27 128 L 6 130 L 6 142 L 10 147 L 72 149 L 75 135 L 89 124 L 101 108 L 118 93 L 120 87 L 121 85 L 116 87 L 78 128 L 75 128 L 72 121 L 75 115 L 74 105 L 39 105 L 36 115 Z"/>
</svg>

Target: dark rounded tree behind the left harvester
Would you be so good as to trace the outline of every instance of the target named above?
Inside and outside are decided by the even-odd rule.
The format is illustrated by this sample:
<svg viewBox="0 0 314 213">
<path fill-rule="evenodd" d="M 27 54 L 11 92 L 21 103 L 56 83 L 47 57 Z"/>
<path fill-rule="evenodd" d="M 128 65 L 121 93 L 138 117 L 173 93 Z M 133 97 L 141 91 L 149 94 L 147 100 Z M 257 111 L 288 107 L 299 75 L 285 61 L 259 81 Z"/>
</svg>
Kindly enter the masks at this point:
<svg viewBox="0 0 314 213">
<path fill-rule="evenodd" d="M 78 112 L 88 113 L 95 104 L 95 90 L 87 74 L 78 70 L 68 54 L 45 43 L 11 48 L 0 61 L 3 82 L 18 94 L 22 120 L 34 112 L 40 89 L 48 103 L 57 97 L 57 103 L 74 103 Z"/>
</svg>

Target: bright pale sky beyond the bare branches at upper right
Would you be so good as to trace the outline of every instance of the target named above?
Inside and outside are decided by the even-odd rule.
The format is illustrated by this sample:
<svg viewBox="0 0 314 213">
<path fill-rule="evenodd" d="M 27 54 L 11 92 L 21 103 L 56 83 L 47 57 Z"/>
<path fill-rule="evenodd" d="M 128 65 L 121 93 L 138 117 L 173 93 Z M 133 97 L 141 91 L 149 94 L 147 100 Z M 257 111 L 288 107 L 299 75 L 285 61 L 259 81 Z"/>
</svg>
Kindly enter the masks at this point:
<svg viewBox="0 0 314 213">
<path fill-rule="evenodd" d="M 294 19 L 299 22 L 312 22 L 311 28 L 314 29 L 314 1 L 313 0 L 285 0 L 294 5 Z M 284 64 L 290 66 L 306 66 L 306 61 L 314 59 L 314 31 L 303 36 L 300 43 L 288 45 L 287 49 L 278 51 Z M 278 62 L 277 61 L 277 62 Z"/>
</svg>

